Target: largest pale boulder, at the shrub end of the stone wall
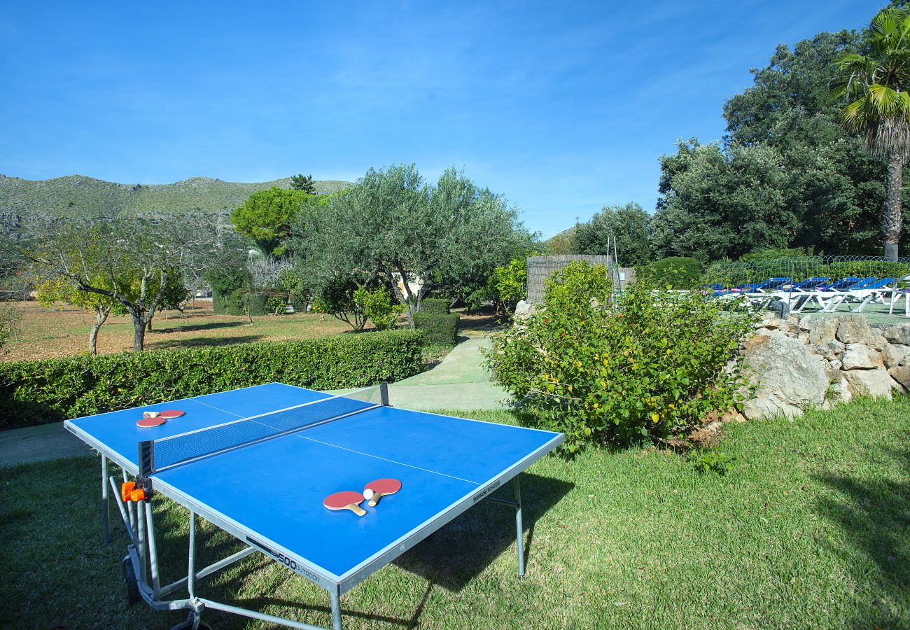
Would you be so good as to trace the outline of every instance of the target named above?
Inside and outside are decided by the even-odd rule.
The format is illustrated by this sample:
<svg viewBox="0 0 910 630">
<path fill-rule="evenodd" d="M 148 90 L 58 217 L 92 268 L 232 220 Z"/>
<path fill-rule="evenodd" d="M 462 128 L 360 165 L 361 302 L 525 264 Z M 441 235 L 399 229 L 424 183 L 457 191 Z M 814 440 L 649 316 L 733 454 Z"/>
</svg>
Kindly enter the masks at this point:
<svg viewBox="0 0 910 630">
<path fill-rule="evenodd" d="M 755 336 L 745 343 L 743 358 L 758 381 L 753 399 L 743 404 L 749 420 L 784 414 L 801 415 L 821 407 L 829 377 L 824 360 L 784 335 Z"/>
</svg>

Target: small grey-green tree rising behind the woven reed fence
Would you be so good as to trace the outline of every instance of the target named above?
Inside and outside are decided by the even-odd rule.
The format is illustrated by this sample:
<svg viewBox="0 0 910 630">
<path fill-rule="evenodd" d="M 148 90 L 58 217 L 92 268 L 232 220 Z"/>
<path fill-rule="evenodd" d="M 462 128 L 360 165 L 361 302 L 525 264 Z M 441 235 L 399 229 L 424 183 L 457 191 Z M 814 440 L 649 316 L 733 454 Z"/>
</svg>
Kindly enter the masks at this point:
<svg viewBox="0 0 910 630">
<path fill-rule="evenodd" d="M 653 258 L 651 217 L 637 203 L 604 206 L 590 221 L 580 223 L 575 229 L 575 253 L 612 254 L 613 237 L 623 265 L 646 265 Z"/>
</svg>

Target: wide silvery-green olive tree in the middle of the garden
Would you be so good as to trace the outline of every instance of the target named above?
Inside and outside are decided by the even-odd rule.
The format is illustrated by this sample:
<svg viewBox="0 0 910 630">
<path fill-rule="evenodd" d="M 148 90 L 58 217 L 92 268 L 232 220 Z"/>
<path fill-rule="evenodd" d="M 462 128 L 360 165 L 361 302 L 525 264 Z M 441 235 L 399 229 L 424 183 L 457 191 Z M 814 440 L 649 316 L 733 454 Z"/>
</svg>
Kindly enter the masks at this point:
<svg viewBox="0 0 910 630">
<path fill-rule="evenodd" d="M 428 185 L 414 165 L 370 168 L 302 223 L 290 249 L 314 294 L 339 281 L 351 290 L 384 284 L 411 325 L 429 290 L 484 286 L 531 239 L 505 199 L 454 168 Z"/>
</svg>

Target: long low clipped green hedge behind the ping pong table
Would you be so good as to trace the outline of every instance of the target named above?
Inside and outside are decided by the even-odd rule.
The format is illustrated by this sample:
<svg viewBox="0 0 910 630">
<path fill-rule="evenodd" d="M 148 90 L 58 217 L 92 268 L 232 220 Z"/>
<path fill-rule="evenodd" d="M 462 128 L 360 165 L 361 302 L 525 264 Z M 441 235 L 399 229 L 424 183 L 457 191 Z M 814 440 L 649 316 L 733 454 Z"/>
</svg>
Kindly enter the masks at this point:
<svg viewBox="0 0 910 630">
<path fill-rule="evenodd" d="M 414 330 L 0 363 L 0 430 L 268 382 L 365 387 L 419 372 Z"/>
</svg>

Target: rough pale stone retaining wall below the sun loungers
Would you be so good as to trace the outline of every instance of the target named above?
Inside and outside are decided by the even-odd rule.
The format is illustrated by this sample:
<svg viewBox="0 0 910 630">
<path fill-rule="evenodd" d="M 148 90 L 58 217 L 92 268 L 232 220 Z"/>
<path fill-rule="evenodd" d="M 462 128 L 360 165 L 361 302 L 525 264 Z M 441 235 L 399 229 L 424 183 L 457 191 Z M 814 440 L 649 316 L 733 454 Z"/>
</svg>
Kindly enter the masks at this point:
<svg viewBox="0 0 910 630">
<path fill-rule="evenodd" d="M 743 415 L 801 415 L 854 396 L 910 390 L 910 323 L 870 326 L 862 315 L 785 320 L 764 313 L 743 355 L 754 396 Z"/>
</svg>

